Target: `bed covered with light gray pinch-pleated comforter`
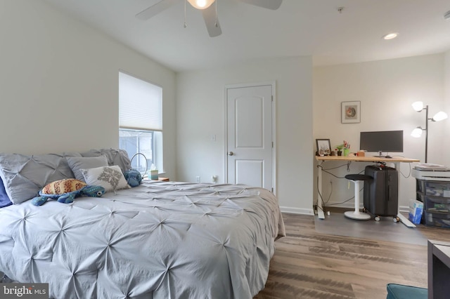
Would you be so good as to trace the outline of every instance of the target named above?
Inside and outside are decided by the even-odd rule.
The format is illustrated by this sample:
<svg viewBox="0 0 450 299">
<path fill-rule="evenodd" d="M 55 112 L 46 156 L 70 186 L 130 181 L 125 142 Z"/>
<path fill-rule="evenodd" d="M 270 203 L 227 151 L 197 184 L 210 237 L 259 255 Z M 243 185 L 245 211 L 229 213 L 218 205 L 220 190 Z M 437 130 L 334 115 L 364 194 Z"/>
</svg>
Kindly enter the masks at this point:
<svg viewBox="0 0 450 299">
<path fill-rule="evenodd" d="M 61 161 L 45 182 L 75 177 L 55 171 Z M 49 283 L 51 298 L 252 298 L 285 235 L 274 194 L 246 185 L 143 180 L 71 204 L 25 200 L 0 208 L 0 220 L 0 271 Z"/>
</svg>

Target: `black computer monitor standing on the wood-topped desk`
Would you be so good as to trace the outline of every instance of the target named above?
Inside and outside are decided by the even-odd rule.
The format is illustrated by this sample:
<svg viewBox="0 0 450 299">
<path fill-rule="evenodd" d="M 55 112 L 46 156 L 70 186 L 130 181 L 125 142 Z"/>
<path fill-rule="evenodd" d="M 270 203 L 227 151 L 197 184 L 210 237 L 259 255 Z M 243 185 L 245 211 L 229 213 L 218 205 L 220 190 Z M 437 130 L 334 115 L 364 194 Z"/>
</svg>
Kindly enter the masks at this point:
<svg viewBox="0 0 450 299">
<path fill-rule="evenodd" d="M 359 149 L 378 152 L 375 157 L 385 157 L 383 152 L 403 152 L 403 131 L 361 132 L 359 137 Z"/>
</svg>

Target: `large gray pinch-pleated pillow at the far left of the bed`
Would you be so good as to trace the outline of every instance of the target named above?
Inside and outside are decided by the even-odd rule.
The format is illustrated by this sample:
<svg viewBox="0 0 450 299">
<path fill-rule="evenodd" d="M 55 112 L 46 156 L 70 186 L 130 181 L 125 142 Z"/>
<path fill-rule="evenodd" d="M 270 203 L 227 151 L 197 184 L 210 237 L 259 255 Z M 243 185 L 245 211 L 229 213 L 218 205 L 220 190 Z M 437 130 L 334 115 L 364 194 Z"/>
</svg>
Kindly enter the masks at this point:
<svg viewBox="0 0 450 299">
<path fill-rule="evenodd" d="M 36 197 L 49 182 L 74 178 L 65 157 L 80 154 L 0 154 L 0 177 L 13 204 Z"/>
</svg>

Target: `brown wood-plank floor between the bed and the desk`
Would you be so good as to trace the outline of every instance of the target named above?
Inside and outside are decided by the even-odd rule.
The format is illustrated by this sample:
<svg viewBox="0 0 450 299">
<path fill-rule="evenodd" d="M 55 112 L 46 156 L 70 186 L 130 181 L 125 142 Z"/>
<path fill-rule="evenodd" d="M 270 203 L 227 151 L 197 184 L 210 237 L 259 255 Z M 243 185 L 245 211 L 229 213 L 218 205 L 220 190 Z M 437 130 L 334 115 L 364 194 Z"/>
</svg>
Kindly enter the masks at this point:
<svg viewBox="0 0 450 299">
<path fill-rule="evenodd" d="M 386 298 L 386 284 L 427 287 L 427 246 L 320 234 L 314 216 L 283 213 L 269 277 L 254 299 Z M 418 225 L 427 239 L 450 230 Z"/>
</svg>

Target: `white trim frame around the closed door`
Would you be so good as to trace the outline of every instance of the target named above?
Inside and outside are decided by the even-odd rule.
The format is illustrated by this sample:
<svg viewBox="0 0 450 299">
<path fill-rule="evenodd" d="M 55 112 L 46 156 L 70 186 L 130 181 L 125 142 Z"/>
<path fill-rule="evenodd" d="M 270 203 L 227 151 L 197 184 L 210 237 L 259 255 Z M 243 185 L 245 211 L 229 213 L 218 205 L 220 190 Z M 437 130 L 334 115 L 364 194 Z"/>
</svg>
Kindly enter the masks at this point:
<svg viewBox="0 0 450 299">
<path fill-rule="evenodd" d="M 252 86 L 271 86 L 272 90 L 272 187 L 274 188 L 274 194 L 276 194 L 276 81 L 263 81 L 257 83 L 243 83 L 243 84 L 227 84 L 224 88 L 224 182 L 228 182 L 228 164 L 227 160 L 227 146 L 228 146 L 228 90 L 231 88 L 243 88 Z M 312 211 L 312 210 L 311 210 Z"/>
</svg>

